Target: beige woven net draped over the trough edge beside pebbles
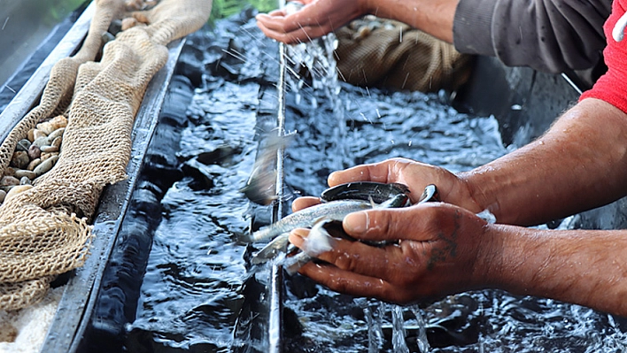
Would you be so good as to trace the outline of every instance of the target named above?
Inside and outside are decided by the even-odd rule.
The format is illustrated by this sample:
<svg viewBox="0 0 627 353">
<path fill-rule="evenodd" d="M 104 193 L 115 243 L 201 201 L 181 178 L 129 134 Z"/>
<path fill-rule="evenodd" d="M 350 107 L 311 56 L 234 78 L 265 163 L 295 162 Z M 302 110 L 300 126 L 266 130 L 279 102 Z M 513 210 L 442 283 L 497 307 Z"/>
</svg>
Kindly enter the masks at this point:
<svg viewBox="0 0 627 353">
<path fill-rule="evenodd" d="M 56 164 L 0 206 L 0 309 L 38 302 L 58 274 L 84 263 L 98 197 L 105 185 L 127 177 L 135 113 L 166 63 L 166 45 L 202 27 L 211 4 L 96 0 L 81 49 L 54 65 L 39 105 L 0 146 L 5 175 L 29 131 L 59 115 L 67 119 Z M 104 34 L 120 19 L 122 30 L 103 47 Z"/>
</svg>

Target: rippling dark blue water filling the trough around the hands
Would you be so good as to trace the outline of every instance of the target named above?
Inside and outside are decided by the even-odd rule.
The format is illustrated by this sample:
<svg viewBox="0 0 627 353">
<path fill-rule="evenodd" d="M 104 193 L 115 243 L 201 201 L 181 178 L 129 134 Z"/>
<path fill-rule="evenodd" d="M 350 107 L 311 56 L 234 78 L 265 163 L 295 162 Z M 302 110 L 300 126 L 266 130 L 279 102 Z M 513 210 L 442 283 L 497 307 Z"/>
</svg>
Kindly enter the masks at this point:
<svg viewBox="0 0 627 353">
<path fill-rule="evenodd" d="M 252 171 L 259 134 L 272 127 L 278 50 L 252 14 L 188 39 L 182 65 L 197 69 L 198 88 L 177 155 L 183 176 L 162 200 L 125 351 L 264 351 L 263 326 L 252 323 L 267 309 L 267 268 L 246 261 L 261 244 L 237 235 L 267 223 L 270 212 L 238 189 Z M 335 102 L 320 90 L 303 84 L 286 96 L 286 129 L 297 132 L 284 165 L 290 197 L 320 195 L 338 160 L 410 157 L 459 172 L 507 153 L 496 119 L 460 113 L 441 96 L 340 87 L 340 135 Z M 419 352 L 425 337 L 431 352 L 620 352 L 627 342 L 619 318 L 499 290 L 401 308 L 340 295 L 300 275 L 286 276 L 285 287 L 286 352 Z"/>
</svg>

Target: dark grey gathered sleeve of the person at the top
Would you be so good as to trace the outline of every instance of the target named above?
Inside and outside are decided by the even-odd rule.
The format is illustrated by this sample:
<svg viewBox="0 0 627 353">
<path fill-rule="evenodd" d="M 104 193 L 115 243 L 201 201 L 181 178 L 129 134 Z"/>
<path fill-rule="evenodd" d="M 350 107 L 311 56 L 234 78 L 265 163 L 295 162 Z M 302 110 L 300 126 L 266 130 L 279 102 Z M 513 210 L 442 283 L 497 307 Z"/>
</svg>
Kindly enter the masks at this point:
<svg viewBox="0 0 627 353">
<path fill-rule="evenodd" d="M 597 65 L 611 0 L 461 0 L 453 43 L 462 53 L 546 73 Z"/>
</svg>

